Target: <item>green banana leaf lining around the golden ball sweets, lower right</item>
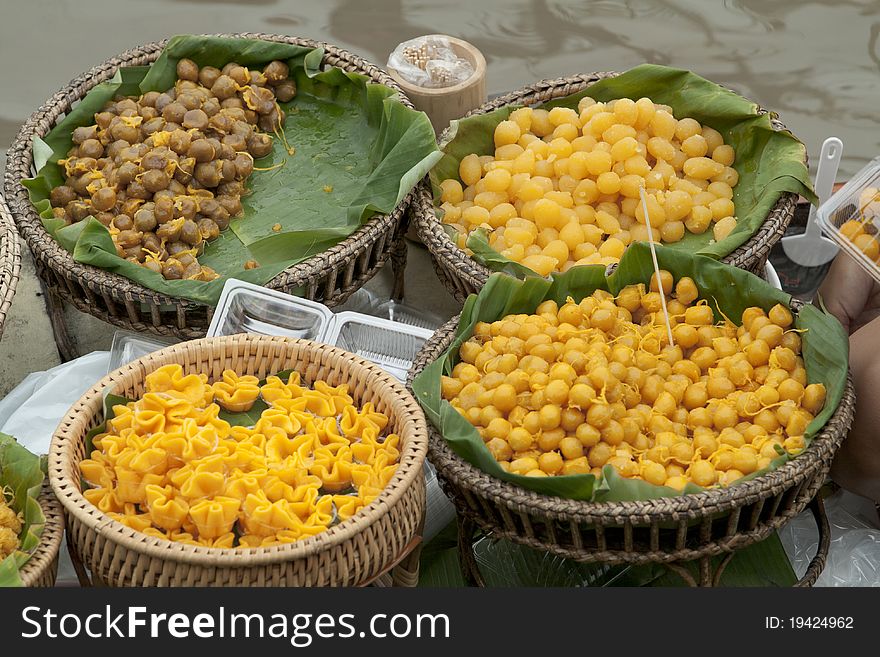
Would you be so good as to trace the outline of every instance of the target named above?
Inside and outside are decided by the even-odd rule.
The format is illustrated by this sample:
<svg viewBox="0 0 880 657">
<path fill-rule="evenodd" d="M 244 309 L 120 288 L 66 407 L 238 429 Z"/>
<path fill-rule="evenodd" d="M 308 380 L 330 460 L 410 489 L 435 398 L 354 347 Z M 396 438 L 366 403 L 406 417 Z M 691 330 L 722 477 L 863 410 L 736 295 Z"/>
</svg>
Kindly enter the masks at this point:
<svg viewBox="0 0 880 657">
<path fill-rule="evenodd" d="M 725 265 L 706 256 L 693 256 L 678 249 L 658 246 L 657 260 L 678 279 L 691 277 L 701 297 L 710 302 L 717 319 L 726 316 L 739 321 L 749 306 L 769 310 L 777 303 L 788 304 L 791 297 L 757 276 Z M 414 380 L 413 392 L 428 420 L 449 443 L 450 448 L 468 463 L 484 472 L 523 488 L 576 500 L 623 501 L 671 497 L 702 490 L 688 484 L 683 493 L 655 486 L 645 481 L 624 479 L 611 466 L 605 466 L 597 482 L 592 474 L 534 478 L 505 472 L 501 469 L 477 430 L 457 413 L 440 394 L 440 377 L 448 375 L 458 362 L 458 350 L 473 335 L 477 322 L 492 322 L 508 314 L 532 313 L 547 299 L 564 303 L 567 297 L 580 301 L 596 289 L 617 294 L 626 285 L 649 283 L 653 274 L 650 248 L 635 243 L 627 249 L 613 274 L 606 278 L 604 267 L 572 267 L 550 279 L 530 277 L 517 280 L 504 274 L 493 274 L 478 295 L 468 297 L 461 312 L 458 329 L 450 347 L 428 365 Z M 803 330 L 803 357 L 810 383 L 822 382 L 827 388 L 827 401 L 822 412 L 810 423 L 805 440 L 821 429 L 843 396 L 849 362 L 849 342 L 840 323 L 814 306 L 805 306 L 795 318 L 795 327 Z M 787 454 L 774 459 L 769 469 L 789 460 Z M 740 481 L 763 474 L 756 472 Z"/>
</svg>

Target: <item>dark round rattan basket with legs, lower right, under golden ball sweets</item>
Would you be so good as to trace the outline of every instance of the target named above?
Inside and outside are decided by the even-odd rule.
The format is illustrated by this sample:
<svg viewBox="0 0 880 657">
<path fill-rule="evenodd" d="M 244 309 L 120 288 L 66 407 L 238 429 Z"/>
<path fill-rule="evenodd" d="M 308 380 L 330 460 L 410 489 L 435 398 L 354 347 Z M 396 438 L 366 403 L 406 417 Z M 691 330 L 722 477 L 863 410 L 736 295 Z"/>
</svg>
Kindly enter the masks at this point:
<svg viewBox="0 0 880 657">
<path fill-rule="evenodd" d="M 458 317 L 425 343 L 409 372 L 409 384 L 449 347 L 457 326 Z M 855 392 L 848 380 L 836 412 L 797 458 L 729 488 L 654 500 L 584 502 L 525 490 L 491 477 L 462 459 L 431 424 L 428 459 L 459 515 L 459 546 L 463 567 L 469 574 L 476 570 L 468 542 L 476 525 L 493 538 L 567 559 L 609 564 L 664 563 L 686 580 L 690 575 L 680 564 L 699 560 L 700 581 L 711 584 L 717 583 L 735 550 L 767 538 L 816 497 L 849 430 L 854 409 Z M 827 530 L 821 501 L 813 511 L 820 529 L 824 523 Z M 823 540 L 827 551 L 827 531 Z M 726 556 L 713 575 L 709 572 L 710 559 L 719 555 Z M 813 581 L 821 572 L 824 556 L 820 554 L 811 566 Z"/>
</svg>

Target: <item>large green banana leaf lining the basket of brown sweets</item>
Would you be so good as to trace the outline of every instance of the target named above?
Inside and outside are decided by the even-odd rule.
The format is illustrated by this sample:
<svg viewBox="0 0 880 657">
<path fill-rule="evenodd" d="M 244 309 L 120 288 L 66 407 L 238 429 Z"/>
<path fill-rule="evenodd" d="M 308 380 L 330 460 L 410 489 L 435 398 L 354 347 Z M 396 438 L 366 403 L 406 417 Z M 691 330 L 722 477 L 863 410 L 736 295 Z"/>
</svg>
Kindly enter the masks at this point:
<svg viewBox="0 0 880 657">
<path fill-rule="evenodd" d="M 282 104 L 282 140 L 256 161 L 242 199 L 244 213 L 208 244 L 199 261 L 220 278 L 168 281 L 116 254 L 107 229 L 90 218 L 64 227 L 52 217 L 49 192 L 63 183 L 57 162 L 72 145 L 73 129 L 117 95 L 164 91 L 184 57 L 200 66 L 229 61 L 290 66 L 297 95 Z M 126 276 L 157 292 L 215 305 L 227 278 L 264 284 L 287 267 L 327 250 L 375 214 L 389 213 L 440 158 L 427 116 L 399 102 L 390 88 L 339 68 L 320 70 L 323 51 L 258 39 L 173 37 L 152 66 L 121 68 L 94 89 L 46 136 L 34 140 L 35 178 L 24 181 L 46 230 L 82 262 Z M 325 191 L 328 190 L 328 191 Z M 273 226 L 280 224 L 281 230 Z M 260 264 L 244 269 L 249 260 Z"/>
</svg>

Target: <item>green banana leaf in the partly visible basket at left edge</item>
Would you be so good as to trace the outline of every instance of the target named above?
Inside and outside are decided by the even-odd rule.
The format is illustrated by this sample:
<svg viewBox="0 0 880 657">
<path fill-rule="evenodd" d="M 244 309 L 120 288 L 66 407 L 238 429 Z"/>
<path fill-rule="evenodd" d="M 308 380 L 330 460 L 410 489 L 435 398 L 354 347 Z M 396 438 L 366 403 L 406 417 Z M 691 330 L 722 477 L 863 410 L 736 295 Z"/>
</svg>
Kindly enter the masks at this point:
<svg viewBox="0 0 880 657">
<path fill-rule="evenodd" d="M 21 586 L 19 571 L 40 543 L 46 524 L 38 497 L 43 485 L 43 464 L 39 456 L 19 445 L 15 438 L 0 433 L 0 495 L 22 514 L 19 549 L 0 561 L 0 587 Z"/>
</svg>

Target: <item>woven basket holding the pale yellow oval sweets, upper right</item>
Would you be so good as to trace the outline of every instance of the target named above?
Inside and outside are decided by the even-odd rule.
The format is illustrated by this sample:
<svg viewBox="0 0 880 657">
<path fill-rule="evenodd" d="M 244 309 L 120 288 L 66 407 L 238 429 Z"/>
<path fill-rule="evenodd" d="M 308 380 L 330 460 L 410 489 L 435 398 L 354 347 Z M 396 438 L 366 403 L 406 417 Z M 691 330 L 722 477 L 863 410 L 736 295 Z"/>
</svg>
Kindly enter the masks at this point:
<svg viewBox="0 0 880 657">
<path fill-rule="evenodd" d="M 478 107 L 465 116 L 475 114 L 487 114 L 505 105 L 537 105 L 554 98 L 562 98 L 582 91 L 589 85 L 619 75 L 619 73 L 585 73 L 556 80 L 542 80 L 533 85 L 512 91 L 503 96 L 490 100 L 485 105 Z M 759 112 L 766 110 L 759 109 Z M 771 119 L 773 127 L 784 130 L 785 126 L 775 118 Z M 440 135 L 440 143 L 452 137 L 447 128 Z M 456 246 L 443 228 L 443 223 L 437 218 L 434 201 L 427 187 L 418 190 L 418 196 L 413 201 L 413 217 L 415 228 L 419 238 L 431 252 L 434 261 L 434 270 L 447 291 L 459 302 L 463 302 L 469 294 L 478 292 L 492 271 L 476 260 L 468 256 Z M 785 192 L 779 197 L 776 205 L 758 231 L 749 240 L 737 248 L 733 253 L 722 258 L 722 262 L 729 265 L 746 269 L 752 273 L 762 274 L 764 263 L 770 254 L 770 249 L 785 234 L 789 221 L 794 216 L 794 208 L 797 203 L 797 195 Z"/>
</svg>

